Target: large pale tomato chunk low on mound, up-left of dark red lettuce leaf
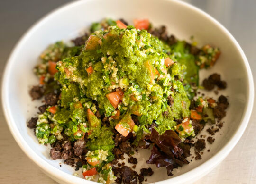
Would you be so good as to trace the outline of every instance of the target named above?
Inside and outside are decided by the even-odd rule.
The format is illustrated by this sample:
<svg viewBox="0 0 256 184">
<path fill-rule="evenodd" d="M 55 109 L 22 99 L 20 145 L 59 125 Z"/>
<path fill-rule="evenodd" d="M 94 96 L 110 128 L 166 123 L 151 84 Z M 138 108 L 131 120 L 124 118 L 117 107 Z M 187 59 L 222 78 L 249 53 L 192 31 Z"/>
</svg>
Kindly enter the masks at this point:
<svg viewBox="0 0 256 184">
<path fill-rule="evenodd" d="M 121 121 L 115 126 L 115 129 L 124 137 L 126 137 L 134 128 L 135 123 L 130 115 L 125 115 Z"/>
</svg>

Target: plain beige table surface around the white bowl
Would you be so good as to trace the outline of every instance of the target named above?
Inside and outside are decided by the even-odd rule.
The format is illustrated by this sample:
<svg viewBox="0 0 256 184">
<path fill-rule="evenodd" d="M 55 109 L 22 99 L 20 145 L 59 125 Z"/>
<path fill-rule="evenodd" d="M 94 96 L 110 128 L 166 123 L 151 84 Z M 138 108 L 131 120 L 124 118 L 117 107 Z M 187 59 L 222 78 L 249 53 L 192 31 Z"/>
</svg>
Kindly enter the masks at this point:
<svg viewBox="0 0 256 184">
<path fill-rule="evenodd" d="M 0 77 L 19 37 L 40 17 L 69 0 L 0 1 Z M 215 17 L 238 40 L 256 81 L 256 1 L 186 0 Z M 197 184 L 256 184 L 256 102 L 245 133 L 219 166 Z M 21 151 L 0 106 L 0 184 L 56 184 Z"/>
</svg>

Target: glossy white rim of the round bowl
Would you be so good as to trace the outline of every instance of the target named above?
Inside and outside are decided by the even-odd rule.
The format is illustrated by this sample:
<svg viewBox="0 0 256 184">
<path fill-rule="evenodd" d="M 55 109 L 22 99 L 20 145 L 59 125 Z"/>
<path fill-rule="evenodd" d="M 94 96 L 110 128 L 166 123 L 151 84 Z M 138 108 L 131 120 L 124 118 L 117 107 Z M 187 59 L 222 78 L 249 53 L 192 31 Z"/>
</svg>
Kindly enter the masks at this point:
<svg viewBox="0 0 256 184">
<path fill-rule="evenodd" d="M 14 56 L 16 55 L 16 52 L 19 50 L 23 42 L 25 42 L 30 34 L 33 34 L 42 24 L 48 21 L 48 19 L 51 19 L 55 14 L 58 14 L 60 12 L 65 11 L 66 9 L 72 8 L 74 6 L 78 6 L 80 3 L 86 3 L 91 0 L 78 0 L 74 2 L 69 2 L 66 3 L 59 8 L 55 8 L 51 12 L 47 13 L 44 17 L 40 18 L 35 24 L 33 24 L 24 34 L 23 36 L 18 40 L 16 43 L 14 49 L 11 51 L 9 55 L 9 59 L 6 63 L 6 66 L 4 68 L 4 73 L 3 73 L 3 78 L 2 78 L 2 90 L 1 90 L 1 100 L 2 100 L 2 108 L 4 111 L 4 115 L 7 121 L 7 124 L 9 126 L 9 130 L 18 143 L 19 147 L 25 152 L 25 154 L 32 159 L 38 167 L 40 167 L 44 172 L 46 172 L 50 177 L 57 179 L 58 181 L 64 181 L 69 184 L 77 184 L 77 183 L 83 183 L 85 182 L 84 179 L 73 176 L 70 174 L 66 174 L 64 171 L 52 166 L 51 164 L 47 163 L 44 159 L 39 157 L 36 152 L 34 152 L 30 146 L 27 144 L 27 142 L 23 139 L 22 135 L 18 131 L 18 127 L 15 125 L 15 121 L 13 117 L 11 116 L 10 109 L 8 108 L 8 88 L 7 86 L 9 85 L 8 83 L 8 78 L 10 75 L 10 68 L 14 63 Z M 194 7 L 193 5 L 179 1 L 179 0 L 164 0 L 164 1 L 172 1 L 172 3 L 179 4 L 180 6 L 183 6 L 185 8 L 188 8 L 190 11 L 194 11 L 198 14 L 200 14 L 203 17 L 206 17 L 208 21 L 213 23 L 215 26 L 219 27 L 221 31 L 229 38 L 229 40 L 236 46 L 236 50 L 238 50 L 238 53 L 240 54 L 243 63 L 246 67 L 246 72 L 247 72 L 247 82 L 248 82 L 248 91 L 247 91 L 247 102 L 246 102 L 246 111 L 244 112 L 240 125 L 238 126 L 238 129 L 236 130 L 235 134 L 231 137 L 229 142 L 227 142 L 221 150 L 219 150 L 214 156 L 212 156 L 210 159 L 202 163 L 196 168 L 193 168 L 192 170 L 179 175 L 175 176 L 173 178 L 169 178 L 163 181 L 155 182 L 157 184 L 164 184 L 166 182 L 174 182 L 175 184 L 178 183 L 183 183 L 187 181 L 196 181 L 200 179 L 202 176 L 206 175 L 208 172 L 210 172 L 211 169 L 216 167 L 225 157 L 229 154 L 229 152 L 235 147 L 239 139 L 241 138 L 242 134 L 244 133 L 247 124 L 249 122 L 252 109 L 253 109 L 253 104 L 254 104 L 254 82 L 253 82 L 253 77 L 252 77 L 252 72 L 248 63 L 248 60 L 239 46 L 238 42 L 235 40 L 235 38 L 229 33 L 229 31 L 221 25 L 216 19 L 211 17 L 209 14 L 204 12 L 203 10 Z M 217 161 L 216 161 L 217 160 Z M 93 184 L 94 182 L 92 181 L 86 181 L 87 183 Z"/>
</svg>

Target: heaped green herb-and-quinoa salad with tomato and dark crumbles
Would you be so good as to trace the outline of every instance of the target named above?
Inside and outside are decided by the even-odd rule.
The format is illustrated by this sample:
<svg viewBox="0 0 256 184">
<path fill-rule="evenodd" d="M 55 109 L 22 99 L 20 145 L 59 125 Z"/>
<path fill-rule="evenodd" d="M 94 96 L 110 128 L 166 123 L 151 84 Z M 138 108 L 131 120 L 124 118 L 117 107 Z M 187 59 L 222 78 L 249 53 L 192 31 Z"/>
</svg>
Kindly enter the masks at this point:
<svg viewBox="0 0 256 184">
<path fill-rule="evenodd" d="M 134 20 L 134 26 L 104 19 L 72 42 L 56 42 L 40 55 L 39 85 L 30 95 L 44 96 L 44 105 L 27 126 L 39 143 L 52 146 L 51 159 L 82 167 L 87 180 L 143 182 L 153 174 L 150 167 L 138 174 L 119 163 L 127 154 L 137 164 L 132 155 L 138 147 L 151 149 L 147 164 L 166 167 L 172 176 L 188 163 L 191 138 L 225 116 L 226 97 L 196 96 L 199 69 L 215 64 L 218 48 L 179 41 L 147 19 Z M 218 74 L 201 88 L 215 85 L 226 88 Z"/>
</svg>

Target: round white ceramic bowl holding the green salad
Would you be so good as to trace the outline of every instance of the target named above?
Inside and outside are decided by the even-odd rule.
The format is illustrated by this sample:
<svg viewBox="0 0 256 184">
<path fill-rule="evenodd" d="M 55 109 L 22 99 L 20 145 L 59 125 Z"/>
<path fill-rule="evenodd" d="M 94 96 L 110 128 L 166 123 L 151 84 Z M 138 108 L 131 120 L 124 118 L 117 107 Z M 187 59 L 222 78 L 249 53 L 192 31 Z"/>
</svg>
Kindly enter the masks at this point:
<svg viewBox="0 0 256 184">
<path fill-rule="evenodd" d="M 42 50 L 52 42 L 73 38 L 91 22 L 104 17 L 122 17 L 130 23 L 133 18 L 149 18 L 153 25 L 166 25 L 169 33 L 174 33 L 179 39 L 189 40 L 194 35 L 200 45 L 209 43 L 221 49 L 222 55 L 216 66 L 201 71 L 200 75 L 202 79 L 217 71 L 228 83 L 227 90 L 221 92 L 229 96 L 230 102 L 222 135 L 218 134 L 214 144 L 207 145 L 211 151 L 205 152 L 201 160 L 175 169 L 171 178 L 166 176 L 165 168 L 161 168 L 148 178 L 148 182 L 178 184 L 199 179 L 229 154 L 243 134 L 253 107 L 254 87 L 246 56 L 233 36 L 208 14 L 181 1 L 75 1 L 33 25 L 11 53 L 2 83 L 3 109 L 15 140 L 27 156 L 57 182 L 92 183 L 73 176 L 74 170 L 69 166 L 59 167 L 60 160 L 51 160 L 49 148 L 39 145 L 33 131 L 27 128 L 27 120 L 36 114 L 35 106 L 40 103 L 31 102 L 28 89 L 38 83 L 32 70 Z M 138 158 L 142 167 L 148 155 L 143 153 Z"/>
</svg>

